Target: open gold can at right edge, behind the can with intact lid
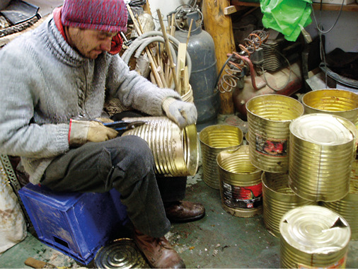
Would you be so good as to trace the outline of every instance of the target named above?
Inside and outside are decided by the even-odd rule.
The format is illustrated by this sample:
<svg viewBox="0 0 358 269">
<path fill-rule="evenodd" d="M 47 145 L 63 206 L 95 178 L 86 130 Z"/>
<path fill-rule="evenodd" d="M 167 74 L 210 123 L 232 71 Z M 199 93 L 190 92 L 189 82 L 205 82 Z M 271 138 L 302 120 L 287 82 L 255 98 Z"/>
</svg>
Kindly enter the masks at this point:
<svg viewBox="0 0 358 269">
<path fill-rule="evenodd" d="M 358 94 L 337 88 L 309 91 L 302 97 L 305 114 L 329 113 L 358 125 Z"/>
</svg>

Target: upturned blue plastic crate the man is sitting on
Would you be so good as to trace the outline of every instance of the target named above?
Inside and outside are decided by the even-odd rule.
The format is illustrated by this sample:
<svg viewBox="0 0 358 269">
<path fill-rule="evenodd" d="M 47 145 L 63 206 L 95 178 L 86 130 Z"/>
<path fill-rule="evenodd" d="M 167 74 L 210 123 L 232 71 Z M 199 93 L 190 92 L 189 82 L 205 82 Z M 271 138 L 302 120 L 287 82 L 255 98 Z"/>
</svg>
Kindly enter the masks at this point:
<svg viewBox="0 0 358 269">
<path fill-rule="evenodd" d="M 127 221 L 120 193 L 54 193 L 29 183 L 19 190 L 38 239 L 87 265 Z"/>
</svg>

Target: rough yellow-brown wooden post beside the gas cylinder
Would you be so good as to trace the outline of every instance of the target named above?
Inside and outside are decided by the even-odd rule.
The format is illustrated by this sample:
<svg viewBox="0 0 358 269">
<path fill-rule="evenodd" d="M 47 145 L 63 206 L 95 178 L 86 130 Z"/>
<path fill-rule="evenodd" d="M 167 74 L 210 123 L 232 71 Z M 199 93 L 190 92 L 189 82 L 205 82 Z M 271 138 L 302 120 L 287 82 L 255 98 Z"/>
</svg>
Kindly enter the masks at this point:
<svg viewBox="0 0 358 269">
<path fill-rule="evenodd" d="M 214 39 L 218 72 L 226 62 L 226 55 L 236 50 L 231 17 L 224 15 L 225 8 L 228 6 L 230 6 L 229 0 L 203 0 L 202 2 L 204 28 Z M 232 92 L 219 93 L 219 95 L 220 113 L 223 115 L 233 114 L 235 108 Z"/>
</svg>

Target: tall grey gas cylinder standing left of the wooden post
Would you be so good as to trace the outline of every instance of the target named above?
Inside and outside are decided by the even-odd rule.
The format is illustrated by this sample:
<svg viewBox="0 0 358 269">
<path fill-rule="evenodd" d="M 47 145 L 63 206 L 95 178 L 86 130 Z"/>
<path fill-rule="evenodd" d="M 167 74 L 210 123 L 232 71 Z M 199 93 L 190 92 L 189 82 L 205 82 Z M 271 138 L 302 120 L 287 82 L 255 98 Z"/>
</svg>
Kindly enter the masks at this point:
<svg viewBox="0 0 358 269">
<path fill-rule="evenodd" d="M 187 42 L 187 52 L 192 60 L 192 71 L 189 83 L 197 107 L 197 130 L 216 123 L 219 112 L 219 91 L 216 90 L 216 57 L 214 40 L 205 30 L 202 30 L 200 13 L 193 11 L 186 14 L 187 25 L 193 20 L 190 38 L 187 42 L 188 30 L 175 30 L 175 38 Z"/>
</svg>

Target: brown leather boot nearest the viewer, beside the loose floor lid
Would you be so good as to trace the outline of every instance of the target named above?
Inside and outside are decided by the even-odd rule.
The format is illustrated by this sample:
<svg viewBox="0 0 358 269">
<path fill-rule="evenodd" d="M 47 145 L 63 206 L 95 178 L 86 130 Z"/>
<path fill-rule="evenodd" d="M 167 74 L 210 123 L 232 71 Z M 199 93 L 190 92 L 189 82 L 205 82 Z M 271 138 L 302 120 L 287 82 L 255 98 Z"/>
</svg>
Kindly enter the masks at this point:
<svg viewBox="0 0 358 269">
<path fill-rule="evenodd" d="M 164 236 L 154 238 L 135 229 L 134 241 L 152 268 L 185 268 L 184 261 Z"/>
</svg>

